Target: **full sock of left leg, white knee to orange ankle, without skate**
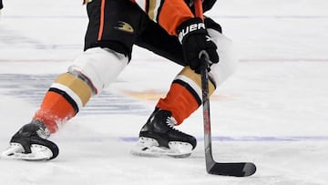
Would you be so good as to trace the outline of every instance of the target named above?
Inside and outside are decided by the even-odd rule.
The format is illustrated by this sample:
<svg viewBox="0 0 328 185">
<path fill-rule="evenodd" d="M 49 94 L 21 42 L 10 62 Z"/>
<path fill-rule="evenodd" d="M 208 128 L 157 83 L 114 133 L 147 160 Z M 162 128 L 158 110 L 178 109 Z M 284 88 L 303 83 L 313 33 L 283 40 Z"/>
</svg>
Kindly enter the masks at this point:
<svg viewBox="0 0 328 185">
<path fill-rule="evenodd" d="M 112 50 L 87 49 L 67 73 L 56 78 L 34 119 L 55 133 L 61 124 L 75 117 L 93 95 L 107 87 L 127 64 L 128 57 Z"/>
</svg>

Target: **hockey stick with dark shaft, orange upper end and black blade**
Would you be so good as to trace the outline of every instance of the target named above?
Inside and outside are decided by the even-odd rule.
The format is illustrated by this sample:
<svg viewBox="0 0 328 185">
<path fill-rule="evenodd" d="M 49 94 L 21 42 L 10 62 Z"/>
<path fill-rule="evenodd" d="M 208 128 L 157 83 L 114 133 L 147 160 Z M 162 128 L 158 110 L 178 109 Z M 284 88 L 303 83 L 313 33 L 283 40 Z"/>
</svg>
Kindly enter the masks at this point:
<svg viewBox="0 0 328 185">
<path fill-rule="evenodd" d="M 201 0 L 195 0 L 195 14 L 204 20 Z M 211 134 L 210 134 L 210 98 L 209 98 L 209 72 L 210 59 L 206 51 L 200 52 L 201 91 L 204 122 L 204 146 L 206 170 L 210 174 L 246 177 L 251 176 L 256 171 L 255 164 L 251 162 L 216 162 L 212 156 Z"/>
</svg>

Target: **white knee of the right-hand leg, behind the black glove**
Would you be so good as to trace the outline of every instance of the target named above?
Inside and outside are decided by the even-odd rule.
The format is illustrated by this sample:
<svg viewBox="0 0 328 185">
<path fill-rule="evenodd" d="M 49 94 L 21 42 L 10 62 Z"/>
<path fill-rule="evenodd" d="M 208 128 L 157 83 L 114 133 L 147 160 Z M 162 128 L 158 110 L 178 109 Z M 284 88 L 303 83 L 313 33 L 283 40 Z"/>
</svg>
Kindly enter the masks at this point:
<svg viewBox="0 0 328 185">
<path fill-rule="evenodd" d="M 218 46 L 217 52 L 220 61 L 210 67 L 210 76 L 213 77 L 217 87 L 219 87 L 236 70 L 238 57 L 231 39 L 220 34 L 217 30 L 208 29 L 210 37 Z"/>
</svg>

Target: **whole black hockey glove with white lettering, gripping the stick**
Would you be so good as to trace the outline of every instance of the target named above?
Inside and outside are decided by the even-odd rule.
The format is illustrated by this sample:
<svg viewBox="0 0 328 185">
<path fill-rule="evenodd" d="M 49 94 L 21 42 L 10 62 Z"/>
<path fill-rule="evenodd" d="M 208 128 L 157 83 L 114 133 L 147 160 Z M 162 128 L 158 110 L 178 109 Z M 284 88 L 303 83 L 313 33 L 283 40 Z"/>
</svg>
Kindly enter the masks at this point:
<svg viewBox="0 0 328 185">
<path fill-rule="evenodd" d="M 217 46 L 211 40 L 200 18 L 191 18 L 178 27 L 183 56 L 190 68 L 200 73 L 200 51 L 206 51 L 211 63 L 218 63 Z"/>
</svg>

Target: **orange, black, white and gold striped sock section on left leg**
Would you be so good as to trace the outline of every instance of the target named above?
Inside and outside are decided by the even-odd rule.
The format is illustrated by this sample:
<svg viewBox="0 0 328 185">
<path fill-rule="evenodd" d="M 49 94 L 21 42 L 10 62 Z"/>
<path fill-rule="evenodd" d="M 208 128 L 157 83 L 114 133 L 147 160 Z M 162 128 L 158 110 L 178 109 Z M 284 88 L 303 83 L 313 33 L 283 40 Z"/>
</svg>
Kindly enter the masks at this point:
<svg viewBox="0 0 328 185">
<path fill-rule="evenodd" d="M 55 133 L 58 126 L 73 118 L 91 96 L 92 88 L 84 80 L 69 73 L 62 74 L 46 92 L 34 119 L 44 123 L 50 133 Z"/>
</svg>

